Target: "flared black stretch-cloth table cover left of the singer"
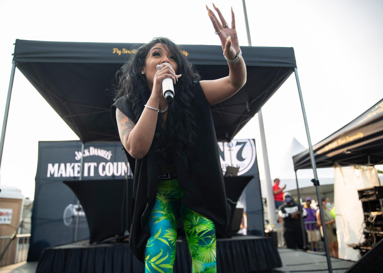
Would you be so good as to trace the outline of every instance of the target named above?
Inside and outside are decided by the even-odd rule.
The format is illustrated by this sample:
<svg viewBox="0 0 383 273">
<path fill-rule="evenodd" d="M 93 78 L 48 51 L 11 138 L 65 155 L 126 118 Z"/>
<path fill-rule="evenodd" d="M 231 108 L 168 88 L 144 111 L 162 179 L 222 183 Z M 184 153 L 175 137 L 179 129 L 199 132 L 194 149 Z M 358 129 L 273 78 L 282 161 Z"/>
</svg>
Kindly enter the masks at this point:
<svg viewBox="0 0 383 273">
<path fill-rule="evenodd" d="M 87 218 L 90 243 L 126 235 L 129 231 L 133 180 L 64 181 L 79 199 Z M 75 221 L 75 219 L 74 219 Z"/>
</svg>

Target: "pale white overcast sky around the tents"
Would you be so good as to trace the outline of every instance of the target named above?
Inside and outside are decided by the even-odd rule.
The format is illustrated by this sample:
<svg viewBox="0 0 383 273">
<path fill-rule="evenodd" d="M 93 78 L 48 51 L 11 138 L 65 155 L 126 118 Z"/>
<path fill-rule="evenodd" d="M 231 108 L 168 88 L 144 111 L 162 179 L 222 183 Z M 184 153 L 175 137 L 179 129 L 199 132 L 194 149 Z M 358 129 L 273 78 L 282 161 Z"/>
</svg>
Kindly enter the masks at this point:
<svg viewBox="0 0 383 273">
<path fill-rule="evenodd" d="M 72 42 L 148 42 L 166 36 L 178 44 L 215 44 L 219 38 L 205 1 L 0 0 L 0 113 L 3 117 L 16 39 Z M 236 14 L 247 46 L 242 1 L 216 1 L 225 18 Z M 293 47 L 313 144 L 349 123 L 383 97 L 383 2 L 246 1 L 252 46 Z M 229 24 L 230 25 L 230 24 Z M 245 60 L 246 62 L 246 60 Z M 294 75 L 262 108 L 272 177 L 295 137 L 307 147 Z M 257 115 L 236 138 L 255 138 L 264 165 Z M 38 141 L 78 140 L 16 69 L 5 135 L 1 184 L 33 199 Z"/>
</svg>

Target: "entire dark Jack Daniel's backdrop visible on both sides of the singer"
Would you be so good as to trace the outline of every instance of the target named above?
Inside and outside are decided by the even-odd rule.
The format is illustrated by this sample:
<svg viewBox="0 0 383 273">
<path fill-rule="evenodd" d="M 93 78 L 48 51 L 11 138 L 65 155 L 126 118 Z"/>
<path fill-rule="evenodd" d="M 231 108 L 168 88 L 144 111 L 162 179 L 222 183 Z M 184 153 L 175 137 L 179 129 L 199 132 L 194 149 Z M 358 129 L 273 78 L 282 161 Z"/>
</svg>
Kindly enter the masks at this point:
<svg viewBox="0 0 383 273">
<path fill-rule="evenodd" d="M 254 139 L 218 143 L 221 167 L 240 167 L 238 175 L 252 175 L 242 194 L 249 234 L 264 235 L 263 207 Z M 36 187 L 31 218 L 28 261 L 39 259 L 42 250 L 74 242 L 77 198 L 62 183 L 79 180 L 80 141 L 39 141 Z M 93 142 L 84 147 L 83 180 L 124 179 L 131 174 L 121 142 Z M 108 197 L 104 200 L 107 205 Z M 89 238 L 85 214 L 79 215 L 78 240 Z M 105 219 L 108 221 L 108 219 Z"/>
</svg>

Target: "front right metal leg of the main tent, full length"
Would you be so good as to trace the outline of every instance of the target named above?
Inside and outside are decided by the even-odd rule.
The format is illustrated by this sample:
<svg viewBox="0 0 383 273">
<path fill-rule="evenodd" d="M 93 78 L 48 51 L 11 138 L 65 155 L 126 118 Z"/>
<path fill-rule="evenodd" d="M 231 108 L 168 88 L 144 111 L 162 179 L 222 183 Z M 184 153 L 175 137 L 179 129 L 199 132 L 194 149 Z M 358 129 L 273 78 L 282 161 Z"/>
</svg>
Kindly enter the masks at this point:
<svg viewBox="0 0 383 273">
<path fill-rule="evenodd" d="M 316 173 L 316 162 L 315 162 L 315 158 L 314 158 L 313 145 L 311 145 L 311 137 L 310 137 L 310 132 L 309 132 L 309 125 L 307 123 L 306 110 L 304 109 L 301 85 L 299 83 L 299 78 L 298 78 L 298 69 L 296 67 L 294 68 L 294 72 L 295 72 L 296 85 L 298 87 L 299 98 L 300 98 L 300 101 L 301 101 L 303 120 L 304 120 L 304 127 L 306 128 L 307 141 L 308 141 L 308 144 L 309 144 L 309 154 L 310 154 L 311 166 L 313 167 L 313 172 L 314 172 L 314 185 L 316 187 L 316 195 L 317 195 L 317 198 L 318 198 L 318 204 L 321 204 L 322 203 L 321 202 L 322 198 L 321 198 L 321 191 L 319 189 L 318 174 Z M 323 210 L 322 210 L 321 207 L 319 208 L 319 213 L 321 215 L 321 222 L 322 222 L 322 225 L 323 225 L 325 221 L 324 221 Z M 329 245 L 327 243 L 328 240 L 327 240 L 326 227 L 323 228 L 323 237 L 324 237 L 324 249 L 326 250 L 327 267 L 328 267 L 329 273 L 332 273 L 330 251 L 329 251 Z"/>
</svg>

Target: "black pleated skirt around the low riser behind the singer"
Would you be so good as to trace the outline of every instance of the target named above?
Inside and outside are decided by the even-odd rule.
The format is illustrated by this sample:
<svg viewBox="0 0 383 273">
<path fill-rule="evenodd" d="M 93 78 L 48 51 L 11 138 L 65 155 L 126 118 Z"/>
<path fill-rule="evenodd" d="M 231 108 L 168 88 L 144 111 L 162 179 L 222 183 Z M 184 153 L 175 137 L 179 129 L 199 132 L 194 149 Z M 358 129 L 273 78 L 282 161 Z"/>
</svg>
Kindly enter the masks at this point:
<svg viewBox="0 0 383 273">
<path fill-rule="evenodd" d="M 141 263 L 127 244 L 68 244 L 45 249 L 36 273 L 144 273 Z M 238 236 L 217 239 L 217 272 L 250 273 L 281 267 L 272 239 Z M 177 241 L 174 273 L 191 272 L 188 244 Z"/>
</svg>

